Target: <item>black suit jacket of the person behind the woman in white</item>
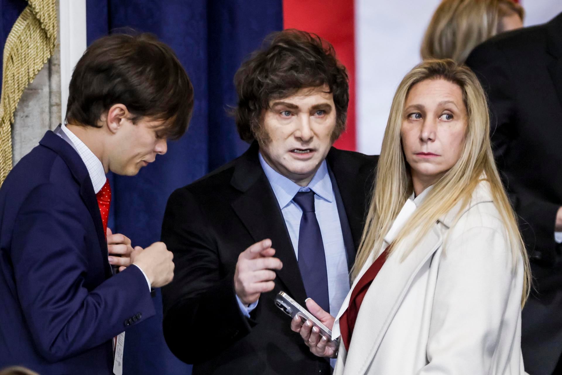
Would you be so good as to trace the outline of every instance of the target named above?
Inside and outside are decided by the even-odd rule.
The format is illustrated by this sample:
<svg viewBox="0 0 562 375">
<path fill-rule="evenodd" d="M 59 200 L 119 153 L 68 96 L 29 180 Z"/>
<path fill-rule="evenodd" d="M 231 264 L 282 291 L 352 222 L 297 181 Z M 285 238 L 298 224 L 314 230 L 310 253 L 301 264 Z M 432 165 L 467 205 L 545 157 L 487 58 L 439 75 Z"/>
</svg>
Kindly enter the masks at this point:
<svg viewBox="0 0 562 375">
<path fill-rule="evenodd" d="M 562 206 L 562 13 L 545 25 L 497 35 L 466 64 L 490 99 L 496 161 L 531 261 L 551 269 Z M 534 274 L 539 290 L 562 286 L 562 273 L 552 271 Z"/>
</svg>

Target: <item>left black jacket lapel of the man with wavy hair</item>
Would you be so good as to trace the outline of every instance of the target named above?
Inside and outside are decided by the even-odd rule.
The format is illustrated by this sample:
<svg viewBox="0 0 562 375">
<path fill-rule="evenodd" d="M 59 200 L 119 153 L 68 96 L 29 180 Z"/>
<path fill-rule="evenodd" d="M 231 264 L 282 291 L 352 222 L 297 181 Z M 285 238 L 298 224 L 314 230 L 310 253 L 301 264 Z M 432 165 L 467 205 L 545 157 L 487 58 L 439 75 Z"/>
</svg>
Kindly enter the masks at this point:
<svg viewBox="0 0 562 375">
<path fill-rule="evenodd" d="M 257 144 L 252 144 L 235 167 L 231 183 L 242 195 L 233 201 L 232 208 L 254 242 L 270 238 L 275 256 L 283 262 L 277 277 L 287 287 L 285 292 L 303 304 L 306 292 L 291 237 L 273 189 L 261 168 L 257 151 Z"/>
</svg>

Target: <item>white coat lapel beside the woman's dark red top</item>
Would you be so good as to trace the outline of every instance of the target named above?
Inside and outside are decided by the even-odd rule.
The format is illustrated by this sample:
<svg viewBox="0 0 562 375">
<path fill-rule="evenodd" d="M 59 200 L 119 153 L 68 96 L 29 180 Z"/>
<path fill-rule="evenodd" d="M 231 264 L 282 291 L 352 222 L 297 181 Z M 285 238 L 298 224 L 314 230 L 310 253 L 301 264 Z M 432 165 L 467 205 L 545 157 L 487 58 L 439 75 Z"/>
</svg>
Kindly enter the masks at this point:
<svg viewBox="0 0 562 375">
<path fill-rule="evenodd" d="M 415 250 L 401 261 L 402 250 L 408 247 L 408 239 L 392 253 L 371 283 L 357 315 L 356 329 L 347 353 L 345 373 L 364 374 L 392 322 L 396 311 L 409 290 L 420 268 L 430 259 L 442 243 L 436 227 L 415 245 Z"/>
</svg>

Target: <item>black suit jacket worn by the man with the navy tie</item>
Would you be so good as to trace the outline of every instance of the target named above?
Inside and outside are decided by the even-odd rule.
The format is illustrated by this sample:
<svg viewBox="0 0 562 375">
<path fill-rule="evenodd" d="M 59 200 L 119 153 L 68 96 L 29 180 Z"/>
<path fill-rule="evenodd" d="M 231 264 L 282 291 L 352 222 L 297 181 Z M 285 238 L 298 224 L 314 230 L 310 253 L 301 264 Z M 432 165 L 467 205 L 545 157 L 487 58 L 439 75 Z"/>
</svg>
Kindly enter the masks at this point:
<svg viewBox="0 0 562 375">
<path fill-rule="evenodd" d="M 336 200 L 355 260 L 377 156 L 332 148 L 327 156 L 336 179 Z M 345 230 L 344 240 L 346 240 Z M 238 255 L 271 238 L 283 262 L 275 290 L 262 293 L 247 319 L 234 292 Z M 304 305 L 305 288 L 283 215 L 261 168 L 257 144 L 238 159 L 169 198 L 162 241 L 174 252 L 174 281 L 162 288 L 164 336 L 170 350 L 193 363 L 193 374 L 329 373 L 329 362 L 310 353 L 290 319 L 274 305 L 279 290 Z M 350 249 L 351 247 L 351 249 Z"/>
</svg>

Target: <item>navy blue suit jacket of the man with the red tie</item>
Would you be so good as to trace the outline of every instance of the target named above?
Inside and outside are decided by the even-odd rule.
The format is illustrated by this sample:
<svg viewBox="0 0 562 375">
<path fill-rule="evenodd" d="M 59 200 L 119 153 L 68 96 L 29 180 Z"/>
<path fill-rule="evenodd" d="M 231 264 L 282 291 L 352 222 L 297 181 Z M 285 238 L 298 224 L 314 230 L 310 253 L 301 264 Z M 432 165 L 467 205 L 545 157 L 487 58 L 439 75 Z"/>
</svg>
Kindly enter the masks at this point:
<svg viewBox="0 0 562 375">
<path fill-rule="evenodd" d="M 49 131 L 17 163 L 0 220 L 0 368 L 112 373 L 111 338 L 155 310 L 140 269 L 111 275 L 92 181 L 70 144 Z"/>
</svg>

